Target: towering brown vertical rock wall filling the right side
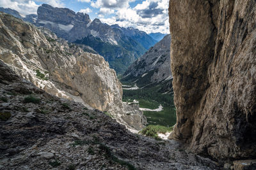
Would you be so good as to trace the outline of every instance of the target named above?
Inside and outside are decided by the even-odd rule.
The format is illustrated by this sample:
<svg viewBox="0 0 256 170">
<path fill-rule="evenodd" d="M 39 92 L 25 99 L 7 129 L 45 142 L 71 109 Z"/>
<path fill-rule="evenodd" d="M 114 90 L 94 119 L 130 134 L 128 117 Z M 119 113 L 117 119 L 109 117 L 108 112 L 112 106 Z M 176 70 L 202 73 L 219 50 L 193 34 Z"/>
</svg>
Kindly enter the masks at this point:
<svg viewBox="0 0 256 170">
<path fill-rule="evenodd" d="M 216 159 L 256 156 L 256 2 L 170 1 L 177 125 Z"/>
</svg>

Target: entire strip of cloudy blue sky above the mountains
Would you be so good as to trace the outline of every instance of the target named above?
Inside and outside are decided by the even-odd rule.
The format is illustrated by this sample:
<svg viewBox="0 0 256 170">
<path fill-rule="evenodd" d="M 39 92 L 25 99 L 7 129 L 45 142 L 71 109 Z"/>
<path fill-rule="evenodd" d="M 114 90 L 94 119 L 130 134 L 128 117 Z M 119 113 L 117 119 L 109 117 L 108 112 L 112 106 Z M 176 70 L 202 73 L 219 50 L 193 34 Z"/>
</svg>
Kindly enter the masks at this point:
<svg viewBox="0 0 256 170">
<path fill-rule="evenodd" d="M 43 3 L 54 7 L 69 8 L 90 15 L 91 20 L 99 18 L 109 25 L 134 27 L 145 31 L 169 34 L 169 0 L 0 0 L 3 8 L 12 8 L 22 15 L 36 14 Z"/>
</svg>

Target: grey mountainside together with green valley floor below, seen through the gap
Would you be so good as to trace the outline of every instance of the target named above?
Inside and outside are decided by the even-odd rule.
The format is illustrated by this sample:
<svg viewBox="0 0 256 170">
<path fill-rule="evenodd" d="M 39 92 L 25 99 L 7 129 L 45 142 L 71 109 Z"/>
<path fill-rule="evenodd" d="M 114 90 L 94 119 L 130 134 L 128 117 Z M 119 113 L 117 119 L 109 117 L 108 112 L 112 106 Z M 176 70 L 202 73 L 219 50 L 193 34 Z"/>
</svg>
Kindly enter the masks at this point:
<svg viewBox="0 0 256 170">
<path fill-rule="evenodd" d="M 170 70 L 170 34 L 134 62 L 120 81 L 124 84 L 123 101 L 139 102 L 150 125 L 172 127 L 176 122 L 173 104 L 172 72 Z M 132 87 L 133 86 L 133 87 Z"/>
</svg>

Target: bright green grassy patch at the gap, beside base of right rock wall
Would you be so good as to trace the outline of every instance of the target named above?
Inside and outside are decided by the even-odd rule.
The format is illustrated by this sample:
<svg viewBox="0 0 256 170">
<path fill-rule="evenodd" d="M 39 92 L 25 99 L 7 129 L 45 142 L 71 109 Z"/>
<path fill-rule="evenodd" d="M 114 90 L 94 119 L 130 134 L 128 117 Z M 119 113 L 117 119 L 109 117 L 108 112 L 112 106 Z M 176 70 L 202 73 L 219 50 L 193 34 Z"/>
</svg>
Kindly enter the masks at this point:
<svg viewBox="0 0 256 170">
<path fill-rule="evenodd" d="M 172 127 L 165 127 L 163 125 L 148 125 L 144 129 L 140 131 L 140 134 L 143 134 L 145 136 L 149 136 L 152 138 L 159 138 L 158 133 L 165 134 L 166 132 L 171 132 Z"/>
</svg>

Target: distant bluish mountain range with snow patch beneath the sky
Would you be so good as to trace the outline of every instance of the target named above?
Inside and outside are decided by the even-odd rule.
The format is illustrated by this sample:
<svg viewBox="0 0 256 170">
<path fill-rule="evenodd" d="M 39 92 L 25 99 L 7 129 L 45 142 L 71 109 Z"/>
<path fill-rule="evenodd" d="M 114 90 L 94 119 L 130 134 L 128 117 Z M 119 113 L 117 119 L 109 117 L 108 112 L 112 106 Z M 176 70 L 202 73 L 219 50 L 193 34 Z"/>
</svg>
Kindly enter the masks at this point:
<svg viewBox="0 0 256 170">
<path fill-rule="evenodd" d="M 54 8 L 49 4 L 39 6 L 37 15 L 26 17 L 10 8 L 0 8 L 0 11 L 36 26 L 46 27 L 69 42 L 86 45 L 85 51 L 95 50 L 118 74 L 124 73 L 132 62 L 157 43 L 156 39 L 138 29 L 104 24 L 98 18 L 92 21 L 86 13 L 76 13 L 68 8 Z"/>
</svg>

